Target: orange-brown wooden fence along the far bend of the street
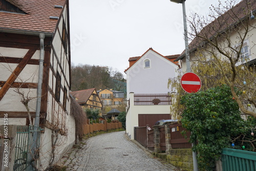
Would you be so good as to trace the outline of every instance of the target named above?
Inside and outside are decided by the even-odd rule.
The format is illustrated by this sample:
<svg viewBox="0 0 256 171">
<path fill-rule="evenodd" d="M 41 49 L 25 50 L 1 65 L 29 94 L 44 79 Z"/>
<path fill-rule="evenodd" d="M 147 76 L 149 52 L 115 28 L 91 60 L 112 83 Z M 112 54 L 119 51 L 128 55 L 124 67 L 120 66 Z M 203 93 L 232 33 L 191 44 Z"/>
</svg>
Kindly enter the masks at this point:
<svg viewBox="0 0 256 171">
<path fill-rule="evenodd" d="M 90 134 L 94 131 L 107 131 L 112 129 L 119 129 L 122 127 L 121 122 L 111 122 L 108 123 L 103 121 L 103 123 L 92 123 L 92 124 L 84 124 L 82 126 L 83 134 Z"/>
</svg>

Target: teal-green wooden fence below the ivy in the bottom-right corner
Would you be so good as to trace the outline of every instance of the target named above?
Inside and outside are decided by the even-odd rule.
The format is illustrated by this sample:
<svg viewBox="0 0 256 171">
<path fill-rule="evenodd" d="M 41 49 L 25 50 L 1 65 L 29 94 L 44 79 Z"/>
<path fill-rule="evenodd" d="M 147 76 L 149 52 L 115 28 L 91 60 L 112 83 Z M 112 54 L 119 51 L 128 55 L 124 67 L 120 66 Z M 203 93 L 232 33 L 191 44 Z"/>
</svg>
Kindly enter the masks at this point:
<svg viewBox="0 0 256 171">
<path fill-rule="evenodd" d="M 240 149 L 222 149 L 223 171 L 256 171 L 256 153 Z"/>
</svg>

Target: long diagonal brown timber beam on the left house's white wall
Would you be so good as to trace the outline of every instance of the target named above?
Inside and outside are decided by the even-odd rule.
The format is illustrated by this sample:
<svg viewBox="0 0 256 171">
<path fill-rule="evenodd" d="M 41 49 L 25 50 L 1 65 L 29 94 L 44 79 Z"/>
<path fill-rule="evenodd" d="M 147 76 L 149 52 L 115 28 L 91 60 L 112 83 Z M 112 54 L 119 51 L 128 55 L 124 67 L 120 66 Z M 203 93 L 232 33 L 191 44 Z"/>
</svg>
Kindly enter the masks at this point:
<svg viewBox="0 0 256 171">
<path fill-rule="evenodd" d="M 7 79 L 5 82 L 4 86 L 0 90 L 0 101 L 3 99 L 5 96 L 6 92 L 10 89 L 12 86 L 12 83 L 15 81 L 15 79 L 18 77 L 20 72 L 25 68 L 27 65 L 28 61 L 31 59 L 31 57 L 34 55 L 36 49 L 30 49 L 27 54 L 24 56 L 22 61 L 19 62 L 18 66 L 15 68 L 15 70 L 12 72 L 10 77 Z"/>
</svg>

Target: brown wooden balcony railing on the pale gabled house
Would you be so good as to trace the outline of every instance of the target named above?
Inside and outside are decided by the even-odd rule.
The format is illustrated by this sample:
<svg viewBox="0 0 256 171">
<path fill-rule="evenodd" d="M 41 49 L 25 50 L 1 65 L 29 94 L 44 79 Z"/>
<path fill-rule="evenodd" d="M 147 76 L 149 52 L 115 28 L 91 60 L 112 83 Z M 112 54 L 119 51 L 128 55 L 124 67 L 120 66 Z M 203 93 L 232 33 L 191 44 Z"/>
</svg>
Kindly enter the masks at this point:
<svg viewBox="0 0 256 171">
<path fill-rule="evenodd" d="M 134 94 L 134 105 L 170 105 L 169 94 Z"/>
</svg>

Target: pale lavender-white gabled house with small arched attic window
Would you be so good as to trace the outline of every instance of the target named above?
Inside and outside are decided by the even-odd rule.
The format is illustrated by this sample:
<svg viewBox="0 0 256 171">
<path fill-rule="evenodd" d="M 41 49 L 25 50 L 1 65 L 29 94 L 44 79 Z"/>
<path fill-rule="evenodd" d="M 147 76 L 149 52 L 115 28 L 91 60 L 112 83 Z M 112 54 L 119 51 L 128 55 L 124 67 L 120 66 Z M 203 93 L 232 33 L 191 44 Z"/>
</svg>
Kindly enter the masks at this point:
<svg viewBox="0 0 256 171">
<path fill-rule="evenodd" d="M 179 55 L 163 56 L 148 49 L 143 55 L 131 57 L 126 73 L 126 133 L 134 139 L 134 126 L 152 126 L 157 120 L 170 119 L 168 78 L 178 75 L 174 62 Z"/>
</svg>

